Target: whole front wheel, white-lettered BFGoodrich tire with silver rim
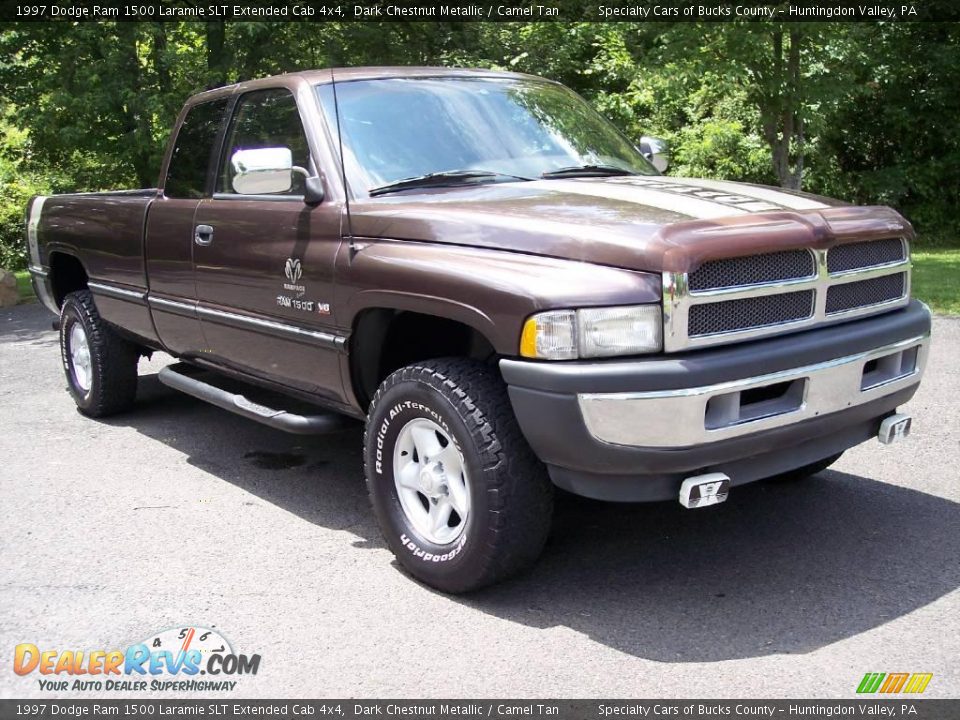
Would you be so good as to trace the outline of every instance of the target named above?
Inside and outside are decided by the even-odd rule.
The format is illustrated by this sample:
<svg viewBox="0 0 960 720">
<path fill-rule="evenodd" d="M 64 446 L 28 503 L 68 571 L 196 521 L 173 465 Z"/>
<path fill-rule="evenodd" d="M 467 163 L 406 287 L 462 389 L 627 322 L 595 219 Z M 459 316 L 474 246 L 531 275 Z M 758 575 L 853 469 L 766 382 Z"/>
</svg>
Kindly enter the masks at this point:
<svg viewBox="0 0 960 720">
<path fill-rule="evenodd" d="M 488 365 L 431 360 L 390 375 L 370 404 L 364 466 L 387 544 L 428 585 L 475 590 L 543 549 L 553 486 Z"/>
</svg>

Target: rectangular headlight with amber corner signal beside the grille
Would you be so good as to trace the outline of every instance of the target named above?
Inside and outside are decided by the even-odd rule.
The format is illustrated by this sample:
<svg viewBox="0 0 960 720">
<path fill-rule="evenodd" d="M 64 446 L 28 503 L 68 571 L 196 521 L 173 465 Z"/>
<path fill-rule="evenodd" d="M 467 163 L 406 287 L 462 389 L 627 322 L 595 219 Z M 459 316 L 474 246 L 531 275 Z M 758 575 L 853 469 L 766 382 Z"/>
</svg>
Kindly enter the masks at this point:
<svg viewBox="0 0 960 720">
<path fill-rule="evenodd" d="M 540 360 L 639 355 L 663 347 L 657 305 L 550 310 L 527 318 L 520 354 Z"/>
</svg>

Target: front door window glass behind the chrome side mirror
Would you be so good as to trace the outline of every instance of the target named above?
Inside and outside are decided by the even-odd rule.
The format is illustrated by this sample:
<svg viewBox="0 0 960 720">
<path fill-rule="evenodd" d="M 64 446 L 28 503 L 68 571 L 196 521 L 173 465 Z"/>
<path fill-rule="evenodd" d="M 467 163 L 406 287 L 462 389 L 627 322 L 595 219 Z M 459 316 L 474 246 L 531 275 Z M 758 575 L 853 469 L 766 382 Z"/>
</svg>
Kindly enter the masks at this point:
<svg viewBox="0 0 960 720">
<path fill-rule="evenodd" d="M 220 172 L 217 174 L 217 193 L 235 194 L 233 165 L 230 159 L 237 150 L 285 147 L 293 155 L 293 164 L 312 174 L 310 148 L 303 132 L 297 103 L 288 90 L 271 89 L 249 92 L 240 98 L 233 120 L 227 130 Z M 303 173 L 293 174 L 291 188 L 278 195 L 303 195 Z"/>
</svg>

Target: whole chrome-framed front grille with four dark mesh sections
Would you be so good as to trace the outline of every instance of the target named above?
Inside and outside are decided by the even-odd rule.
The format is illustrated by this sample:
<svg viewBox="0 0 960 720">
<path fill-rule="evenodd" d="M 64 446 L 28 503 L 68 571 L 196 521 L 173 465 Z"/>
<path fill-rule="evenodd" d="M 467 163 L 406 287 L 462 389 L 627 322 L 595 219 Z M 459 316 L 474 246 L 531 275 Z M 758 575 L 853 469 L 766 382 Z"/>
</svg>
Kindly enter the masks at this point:
<svg viewBox="0 0 960 720">
<path fill-rule="evenodd" d="M 689 275 L 663 274 L 664 349 L 803 330 L 902 307 L 909 297 L 901 238 L 711 260 Z"/>
</svg>

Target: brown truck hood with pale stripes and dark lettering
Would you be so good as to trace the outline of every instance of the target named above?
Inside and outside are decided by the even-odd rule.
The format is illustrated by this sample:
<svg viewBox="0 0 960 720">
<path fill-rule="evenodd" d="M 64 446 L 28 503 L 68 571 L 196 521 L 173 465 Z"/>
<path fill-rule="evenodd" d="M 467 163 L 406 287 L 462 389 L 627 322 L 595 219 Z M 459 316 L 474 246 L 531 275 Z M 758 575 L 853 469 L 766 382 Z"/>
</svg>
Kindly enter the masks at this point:
<svg viewBox="0 0 960 720">
<path fill-rule="evenodd" d="M 912 238 L 885 207 L 761 185 L 674 177 L 536 180 L 350 203 L 358 239 L 449 243 L 650 272 L 879 237 Z"/>
</svg>

